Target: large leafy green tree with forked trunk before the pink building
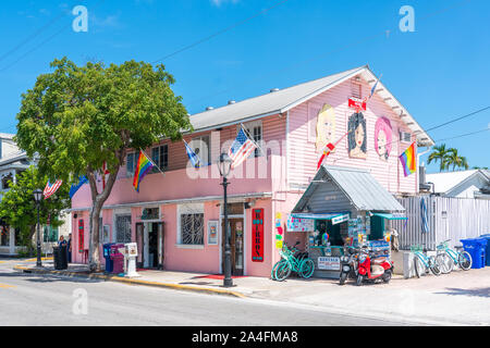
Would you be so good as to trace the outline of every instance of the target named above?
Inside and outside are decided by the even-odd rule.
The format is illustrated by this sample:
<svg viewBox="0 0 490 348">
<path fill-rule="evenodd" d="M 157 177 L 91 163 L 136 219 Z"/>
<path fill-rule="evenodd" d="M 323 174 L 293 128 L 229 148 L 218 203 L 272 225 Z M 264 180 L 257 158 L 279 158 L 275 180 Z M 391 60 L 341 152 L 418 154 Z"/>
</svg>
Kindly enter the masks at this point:
<svg viewBox="0 0 490 348">
<path fill-rule="evenodd" d="M 77 66 L 63 58 L 51 67 L 52 73 L 38 76 L 22 96 L 16 141 L 29 156 L 39 153 L 39 171 L 50 178 L 75 183 L 87 176 L 89 263 L 98 270 L 98 217 L 127 150 L 145 149 L 161 138 L 181 139 L 192 126 L 163 65 L 130 61 Z M 97 183 L 103 163 L 110 172 L 105 189 Z"/>
</svg>

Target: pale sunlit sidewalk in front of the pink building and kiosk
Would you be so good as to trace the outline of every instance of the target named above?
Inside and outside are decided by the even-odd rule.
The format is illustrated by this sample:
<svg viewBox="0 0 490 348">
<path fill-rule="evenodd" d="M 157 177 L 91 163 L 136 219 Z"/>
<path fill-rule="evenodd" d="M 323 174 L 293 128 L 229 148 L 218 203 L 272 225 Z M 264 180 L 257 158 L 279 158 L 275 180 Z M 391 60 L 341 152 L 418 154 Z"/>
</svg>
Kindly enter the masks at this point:
<svg viewBox="0 0 490 348">
<path fill-rule="evenodd" d="M 71 264 L 68 271 L 53 271 L 52 263 L 37 270 L 19 265 L 17 271 L 63 274 L 159 286 L 238 298 L 282 301 L 313 306 L 318 310 L 407 322 L 449 325 L 490 325 L 490 268 L 454 271 L 449 275 L 427 275 L 405 279 L 394 276 L 390 284 L 353 282 L 340 286 L 334 279 L 291 277 L 274 282 L 265 277 L 234 277 L 234 287 L 222 287 L 222 276 L 170 271 L 138 271 L 140 277 L 124 278 L 108 274 L 89 274 L 86 265 Z"/>
</svg>

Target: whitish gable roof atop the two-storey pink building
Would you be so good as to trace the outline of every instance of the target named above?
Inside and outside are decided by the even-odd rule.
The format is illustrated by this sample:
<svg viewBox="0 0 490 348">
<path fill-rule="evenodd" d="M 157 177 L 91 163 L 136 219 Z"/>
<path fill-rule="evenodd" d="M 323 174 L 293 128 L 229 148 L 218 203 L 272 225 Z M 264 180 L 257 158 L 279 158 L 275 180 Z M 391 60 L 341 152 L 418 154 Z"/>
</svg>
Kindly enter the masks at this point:
<svg viewBox="0 0 490 348">
<path fill-rule="evenodd" d="M 356 75 L 362 75 L 371 86 L 376 84 L 376 75 L 370 71 L 368 65 L 364 65 L 218 109 L 200 112 L 191 116 L 191 123 L 195 132 L 203 132 L 284 113 Z M 433 145 L 430 136 L 418 125 L 415 119 L 393 95 L 388 91 L 381 82 L 378 84 L 376 92 L 400 115 L 402 122 L 416 134 L 420 146 Z"/>
</svg>

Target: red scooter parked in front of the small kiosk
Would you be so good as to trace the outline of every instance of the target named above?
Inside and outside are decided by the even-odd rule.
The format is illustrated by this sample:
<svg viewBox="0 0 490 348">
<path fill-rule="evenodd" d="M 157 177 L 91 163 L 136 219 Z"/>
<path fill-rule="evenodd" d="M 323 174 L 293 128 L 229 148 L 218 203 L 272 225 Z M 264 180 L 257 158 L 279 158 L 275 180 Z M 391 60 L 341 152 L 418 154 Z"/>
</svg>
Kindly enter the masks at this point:
<svg viewBox="0 0 490 348">
<path fill-rule="evenodd" d="M 368 251 L 365 248 L 359 252 L 356 285 L 363 285 L 364 281 L 376 282 L 378 278 L 384 283 L 389 283 L 393 274 L 393 262 L 389 262 L 384 257 L 377 257 L 375 252 Z"/>
</svg>

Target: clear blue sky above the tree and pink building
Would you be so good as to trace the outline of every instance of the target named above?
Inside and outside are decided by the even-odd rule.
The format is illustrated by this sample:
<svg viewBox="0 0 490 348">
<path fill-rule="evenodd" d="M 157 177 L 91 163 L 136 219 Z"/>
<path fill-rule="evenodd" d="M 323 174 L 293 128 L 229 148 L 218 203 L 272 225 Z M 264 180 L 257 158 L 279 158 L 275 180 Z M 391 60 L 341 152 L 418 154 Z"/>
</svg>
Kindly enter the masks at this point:
<svg viewBox="0 0 490 348">
<path fill-rule="evenodd" d="M 49 71 L 54 58 L 66 55 L 77 64 L 154 62 L 275 2 L 3 1 L 0 132 L 15 133 L 21 94 Z M 77 4 L 88 9 L 88 33 L 72 29 L 71 9 Z M 415 33 L 399 29 L 402 5 L 415 9 Z M 489 18 L 488 0 L 287 0 L 163 63 L 189 113 L 369 64 L 417 122 L 430 128 L 490 105 Z M 39 35 L 1 58 L 34 33 Z M 438 140 L 487 127 L 490 110 L 430 135 Z M 444 142 L 470 166 L 490 166 L 489 140 L 485 132 Z M 437 170 L 429 166 L 429 172 Z"/>
</svg>

